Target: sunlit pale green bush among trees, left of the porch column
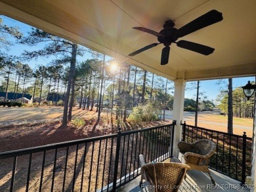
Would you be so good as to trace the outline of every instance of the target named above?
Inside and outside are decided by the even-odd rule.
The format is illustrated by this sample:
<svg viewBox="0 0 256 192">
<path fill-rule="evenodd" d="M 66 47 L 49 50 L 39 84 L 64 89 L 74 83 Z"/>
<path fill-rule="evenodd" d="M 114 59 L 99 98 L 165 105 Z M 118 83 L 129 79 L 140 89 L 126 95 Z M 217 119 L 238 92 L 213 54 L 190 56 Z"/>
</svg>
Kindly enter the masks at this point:
<svg viewBox="0 0 256 192">
<path fill-rule="evenodd" d="M 133 111 L 127 120 L 131 123 L 158 121 L 158 113 L 160 113 L 159 110 L 151 103 L 139 105 L 138 107 L 133 107 Z"/>
</svg>

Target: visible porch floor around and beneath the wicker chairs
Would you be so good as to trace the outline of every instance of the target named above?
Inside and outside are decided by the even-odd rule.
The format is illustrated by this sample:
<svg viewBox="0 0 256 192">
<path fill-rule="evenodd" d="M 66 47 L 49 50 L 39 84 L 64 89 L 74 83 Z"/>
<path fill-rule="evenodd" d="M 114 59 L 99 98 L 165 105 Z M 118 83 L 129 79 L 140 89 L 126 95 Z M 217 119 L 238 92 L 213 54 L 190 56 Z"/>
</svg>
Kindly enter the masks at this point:
<svg viewBox="0 0 256 192">
<path fill-rule="evenodd" d="M 190 170 L 189 172 L 187 172 L 186 180 L 183 180 L 179 191 L 192 191 L 192 192 L 194 191 L 230 191 L 230 192 L 249 191 L 249 189 L 243 189 L 243 187 L 240 185 L 240 182 L 233 180 L 228 176 L 224 176 L 219 172 L 215 172 L 214 170 L 211 170 L 211 175 L 213 176 L 213 179 L 215 180 L 216 185 L 213 185 L 211 183 L 211 180 L 208 174 L 205 174 L 203 172 L 199 172 L 196 170 Z M 148 191 L 146 190 L 145 187 L 143 187 L 143 189 L 140 189 L 139 182 L 140 182 L 140 176 L 135 178 L 135 180 L 123 185 L 122 187 L 117 189 L 117 191 L 118 192 Z M 144 182 L 143 184 L 146 185 L 146 182 Z"/>
</svg>

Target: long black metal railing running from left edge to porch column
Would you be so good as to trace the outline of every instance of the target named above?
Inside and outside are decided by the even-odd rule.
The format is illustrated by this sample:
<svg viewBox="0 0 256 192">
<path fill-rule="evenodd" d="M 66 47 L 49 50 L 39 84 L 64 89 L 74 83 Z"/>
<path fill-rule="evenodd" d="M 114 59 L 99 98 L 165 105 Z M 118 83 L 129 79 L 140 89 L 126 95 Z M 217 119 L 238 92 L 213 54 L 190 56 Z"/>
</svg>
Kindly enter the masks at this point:
<svg viewBox="0 0 256 192">
<path fill-rule="evenodd" d="M 173 155 L 175 121 L 129 132 L 0 153 L 0 191 L 115 191 L 146 162 Z"/>
</svg>

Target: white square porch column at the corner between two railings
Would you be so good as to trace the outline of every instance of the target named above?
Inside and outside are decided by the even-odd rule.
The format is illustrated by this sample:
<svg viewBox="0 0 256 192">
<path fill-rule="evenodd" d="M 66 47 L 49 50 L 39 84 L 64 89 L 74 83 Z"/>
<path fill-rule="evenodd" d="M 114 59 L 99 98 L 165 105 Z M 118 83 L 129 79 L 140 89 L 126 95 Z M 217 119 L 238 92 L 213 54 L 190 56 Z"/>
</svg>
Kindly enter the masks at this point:
<svg viewBox="0 0 256 192">
<path fill-rule="evenodd" d="M 174 141 L 173 141 L 173 156 L 178 157 L 179 151 L 177 144 L 181 141 L 182 126 L 181 121 L 183 119 L 184 111 L 184 94 L 186 81 L 184 79 L 177 79 L 174 81 L 175 93 L 173 99 L 173 120 L 177 121 L 175 126 Z"/>
</svg>

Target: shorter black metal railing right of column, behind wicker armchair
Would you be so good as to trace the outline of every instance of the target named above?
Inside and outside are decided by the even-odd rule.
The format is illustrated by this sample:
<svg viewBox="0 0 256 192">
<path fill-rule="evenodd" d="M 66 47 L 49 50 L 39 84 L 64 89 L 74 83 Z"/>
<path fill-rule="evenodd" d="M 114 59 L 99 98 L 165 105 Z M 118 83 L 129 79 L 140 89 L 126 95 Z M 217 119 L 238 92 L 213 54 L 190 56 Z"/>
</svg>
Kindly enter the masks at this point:
<svg viewBox="0 0 256 192">
<path fill-rule="evenodd" d="M 199 139 L 209 139 L 215 142 L 216 153 L 211 157 L 210 168 L 245 184 L 246 176 L 251 175 L 252 148 L 252 138 L 248 138 L 246 132 L 239 136 L 186 125 L 186 121 L 181 125 L 183 141 L 192 143 Z"/>
</svg>

